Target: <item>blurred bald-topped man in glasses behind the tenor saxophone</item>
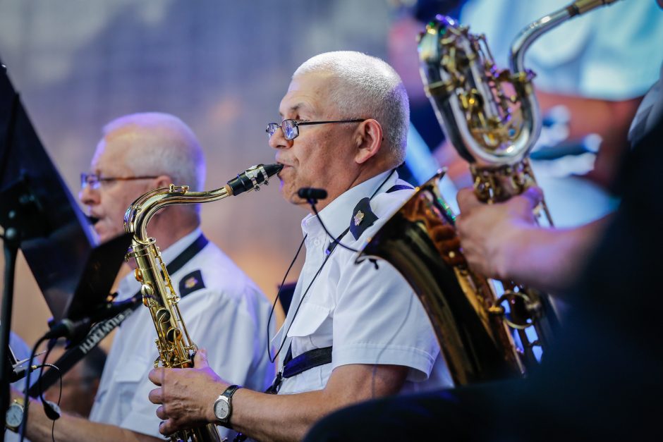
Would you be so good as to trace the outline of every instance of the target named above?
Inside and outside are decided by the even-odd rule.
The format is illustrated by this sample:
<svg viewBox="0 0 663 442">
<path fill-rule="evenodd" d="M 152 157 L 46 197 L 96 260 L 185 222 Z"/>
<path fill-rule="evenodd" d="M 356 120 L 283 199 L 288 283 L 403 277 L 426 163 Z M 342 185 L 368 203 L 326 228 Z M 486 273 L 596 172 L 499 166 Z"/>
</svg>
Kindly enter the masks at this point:
<svg viewBox="0 0 663 442">
<path fill-rule="evenodd" d="M 205 159 L 193 132 L 165 113 L 135 113 L 112 121 L 83 173 L 80 202 L 89 209 L 102 241 L 123 233 L 127 207 L 143 193 L 171 183 L 202 190 Z M 149 229 L 162 247 L 181 296 L 179 307 L 198 345 L 223 348 L 209 365 L 229 381 L 264 388 L 274 366 L 264 354 L 270 305 L 260 290 L 200 230 L 199 208 L 176 205 L 157 214 Z M 177 259 L 176 259 L 177 258 Z M 138 292 L 133 272 L 124 278 L 117 300 Z M 109 352 L 90 419 L 63 415 L 55 424 L 58 441 L 159 441 L 156 406 L 147 400 L 147 374 L 158 353 L 150 313 L 139 306 L 123 321 Z M 26 435 L 50 441 L 51 422 L 42 407 L 29 408 Z"/>
</svg>

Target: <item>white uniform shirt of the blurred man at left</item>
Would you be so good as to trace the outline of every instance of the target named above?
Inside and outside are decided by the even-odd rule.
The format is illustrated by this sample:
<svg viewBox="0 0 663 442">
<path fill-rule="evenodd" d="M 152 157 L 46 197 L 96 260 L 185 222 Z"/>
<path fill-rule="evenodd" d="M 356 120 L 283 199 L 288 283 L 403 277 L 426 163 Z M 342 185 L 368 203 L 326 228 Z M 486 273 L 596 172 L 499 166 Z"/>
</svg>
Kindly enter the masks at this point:
<svg viewBox="0 0 663 442">
<path fill-rule="evenodd" d="M 200 229 L 196 229 L 162 252 L 164 262 L 169 264 L 199 235 Z M 188 293 L 179 302 L 190 338 L 199 348 L 207 349 L 214 372 L 231 383 L 262 391 L 274 377 L 266 350 L 271 305 L 253 281 L 212 243 L 171 275 L 177 292 L 180 281 L 196 270 L 200 270 L 205 287 Z M 121 281 L 118 300 L 128 299 L 139 287 L 133 273 L 128 275 Z M 158 356 L 156 337 L 145 307 L 138 307 L 122 323 L 104 367 L 90 420 L 162 437 L 160 419 L 155 414 L 157 405 L 147 399 L 150 390 L 156 388 L 147 379 Z"/>
</svg>

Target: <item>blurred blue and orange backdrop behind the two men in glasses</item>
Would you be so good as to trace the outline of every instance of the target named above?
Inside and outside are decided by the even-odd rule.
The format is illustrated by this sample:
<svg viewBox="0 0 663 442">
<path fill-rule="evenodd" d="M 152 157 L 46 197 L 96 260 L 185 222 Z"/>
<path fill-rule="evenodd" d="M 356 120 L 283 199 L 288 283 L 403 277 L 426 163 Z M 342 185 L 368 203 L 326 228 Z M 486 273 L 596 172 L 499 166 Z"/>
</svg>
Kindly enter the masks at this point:
<svg viewBox="0 0 663 442">
<path fill-rule="evenodd" d="M 212 189 L 273 162 L 264 127 L 300 63 L 338 49 L 387 58 L 395 13 L 387 0 L 0 0 L 0 59 L 73 195 L 102 126 L 137 111 L 193 128 Z M 306 214 L 278 187 L 202 206 L 208 237 L 271 298 Z M 50 313 L 23 259 L 15 293 L 12 329 L 32 345 Z"/>
</svg>

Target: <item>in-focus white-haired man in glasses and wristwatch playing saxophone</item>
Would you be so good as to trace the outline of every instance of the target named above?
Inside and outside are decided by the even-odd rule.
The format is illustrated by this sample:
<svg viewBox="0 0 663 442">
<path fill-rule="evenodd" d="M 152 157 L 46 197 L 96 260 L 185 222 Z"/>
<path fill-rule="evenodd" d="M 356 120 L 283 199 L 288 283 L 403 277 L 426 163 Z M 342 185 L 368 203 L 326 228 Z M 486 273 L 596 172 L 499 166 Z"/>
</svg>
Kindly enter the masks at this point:
<svg viewBox="0 0 663 442">
<path fill-rule="evenodd" d="M 163 404 L 162 434 L 205 421 L 260 440 L 298 440 L 345 405 L 451 383 L 406 281 L 384 262 L 355 265 L 345 248 L 365 243 L 411 195 L 394 171 L 404 158 L 409 113 L 399 76 L 358 52 L 321 54 L 296 70 L 279 110 L 281 123 L 267 132 L 284 165 L 284 198 L 303 203 L 300 188 L 328 195 L 319 214 L 302 221 L 306 260 L 274 339 L 279 394 L 236 389 L 210 369 L 156 369 L 150 379 L 161 388 L 150 400 Z"/>
</svg>

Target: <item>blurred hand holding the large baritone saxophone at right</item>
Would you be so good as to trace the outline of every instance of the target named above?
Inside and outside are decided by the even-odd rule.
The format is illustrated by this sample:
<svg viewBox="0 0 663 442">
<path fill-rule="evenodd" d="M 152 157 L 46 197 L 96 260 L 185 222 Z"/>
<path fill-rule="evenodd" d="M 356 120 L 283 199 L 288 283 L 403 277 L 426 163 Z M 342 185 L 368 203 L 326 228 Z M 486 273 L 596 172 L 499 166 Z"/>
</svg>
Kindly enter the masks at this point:
<svg viewBox="0 0 663 442">
<path fill-rule="evenodd" d="M 510 279 L 511 265 L 517 262 L 522 233 L 537 228 L 533 209 L 542 201 L 540 188 L 529 188 L 522 195 L 498 204 L 484 204 L 472 188 L 458 191 L 456 218 L 463 254 L 470 266 L 489 278 Z M 516 265 L 516 264 L 513 264 Z"/>
</svg>

